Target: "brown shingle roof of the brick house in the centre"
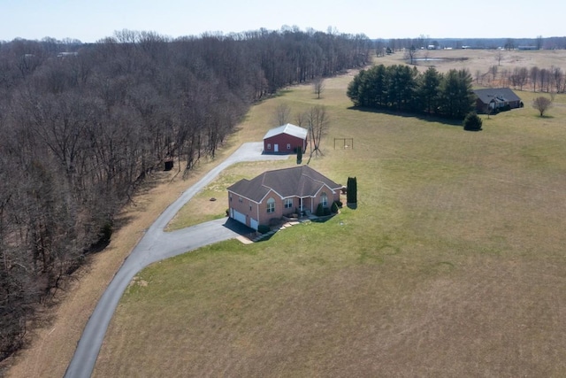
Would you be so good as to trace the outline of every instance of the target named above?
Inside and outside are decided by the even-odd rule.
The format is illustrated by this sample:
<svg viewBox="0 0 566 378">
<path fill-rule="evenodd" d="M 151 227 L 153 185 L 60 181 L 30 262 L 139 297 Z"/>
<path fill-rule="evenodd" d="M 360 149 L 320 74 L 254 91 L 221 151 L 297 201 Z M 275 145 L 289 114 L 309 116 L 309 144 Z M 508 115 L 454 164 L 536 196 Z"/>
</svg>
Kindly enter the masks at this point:
<svg viewBox="0 0 566 378">
<path fill-rule="evenodd" d="M 282 198 L 313 197 L 324 187 L 336 190 L 342 186 L 319 174 L 310 166 L 295 166 L 267 171 L 251 180 L 243 179 L 230 186 L 228 190 L 259 203 L 271 190 Z"/>
</svg>

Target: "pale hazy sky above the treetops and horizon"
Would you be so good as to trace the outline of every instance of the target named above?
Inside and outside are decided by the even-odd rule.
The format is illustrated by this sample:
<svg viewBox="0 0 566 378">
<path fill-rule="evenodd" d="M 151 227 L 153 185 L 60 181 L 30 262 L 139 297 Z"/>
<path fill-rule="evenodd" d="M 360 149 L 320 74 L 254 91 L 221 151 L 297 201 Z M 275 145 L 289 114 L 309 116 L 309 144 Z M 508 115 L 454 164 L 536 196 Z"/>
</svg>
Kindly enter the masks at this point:
<svg viewBox="0 0 566 378">
<path fill-rule="evenodd" d="M 179 37 L 283 26 L 370 38 L 566 35 L 566 1 L 512 0 L 0 0 L 0 40 L 96 42 L 116 30 Z"/>
</svg>

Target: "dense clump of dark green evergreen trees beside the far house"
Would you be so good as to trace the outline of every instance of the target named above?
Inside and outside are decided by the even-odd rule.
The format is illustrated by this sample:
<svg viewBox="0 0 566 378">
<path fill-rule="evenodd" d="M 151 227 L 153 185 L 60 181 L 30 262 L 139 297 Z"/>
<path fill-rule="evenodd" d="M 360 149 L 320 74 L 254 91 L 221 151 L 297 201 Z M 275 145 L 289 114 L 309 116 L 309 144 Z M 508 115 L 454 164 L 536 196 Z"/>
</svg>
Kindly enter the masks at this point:
<svg viewBox="0 0 566 378">
<path fill-rule="evenodd" d="M 419 73 L 414 66 L 379 65 L 361 70 L 347 94 L 356 106 L 463 120 L 474 107 L 471 82 L 465 69 Z"/>
</svg>

